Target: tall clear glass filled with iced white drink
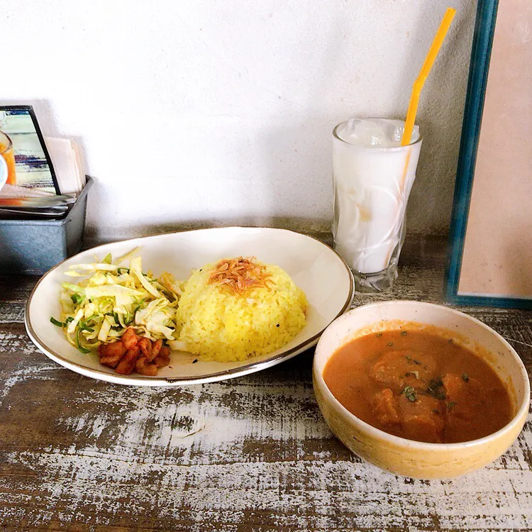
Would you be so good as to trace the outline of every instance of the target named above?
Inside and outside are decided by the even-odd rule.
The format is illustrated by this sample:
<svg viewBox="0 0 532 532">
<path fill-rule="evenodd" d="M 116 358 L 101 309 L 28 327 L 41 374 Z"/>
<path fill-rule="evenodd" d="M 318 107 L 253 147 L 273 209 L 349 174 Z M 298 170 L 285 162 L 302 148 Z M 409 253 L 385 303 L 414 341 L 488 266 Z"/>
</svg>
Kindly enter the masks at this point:
<svg viewBox="0 0 532 532">
<path fill-rule="evenodd" d="M 385 118 L 355 118 L 333 131 L 334 247 L 358 292 L 383 292 L 397 278 L 421 151 L 419 129 L 406 146 L 403 131 L 403 121 Z"/>
</svg>

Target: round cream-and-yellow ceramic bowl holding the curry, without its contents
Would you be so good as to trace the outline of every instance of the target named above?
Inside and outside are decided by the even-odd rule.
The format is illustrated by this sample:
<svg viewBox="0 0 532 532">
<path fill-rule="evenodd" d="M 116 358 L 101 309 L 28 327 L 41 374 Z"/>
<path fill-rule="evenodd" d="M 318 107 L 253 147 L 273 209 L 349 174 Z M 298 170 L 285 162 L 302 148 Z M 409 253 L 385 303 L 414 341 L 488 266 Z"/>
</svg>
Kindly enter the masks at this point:
<svg viewBox="0 0 532 532">
<path fill-rule="evenodd" d="M 416 322 L 450 331 L 481 355 L 509 389 L 514 418 L 500 431 L 464 443 L 422 443 L 380 431 L 345 409 L 323 380 L 327 361 L 340 345 L 401 322 Z M 340 316 L 321 336 L 314 356 L 314 393 L 331 431 L 353 453 L 384 470 L 407 477 L 443 479 L 483 467 L 510 447 L 521 432 L 530 403 L 530 382 L 516 351 L 481 321 L 446 306 L 419 301 L 384 301 L 360 306 Z"/>
</svg>

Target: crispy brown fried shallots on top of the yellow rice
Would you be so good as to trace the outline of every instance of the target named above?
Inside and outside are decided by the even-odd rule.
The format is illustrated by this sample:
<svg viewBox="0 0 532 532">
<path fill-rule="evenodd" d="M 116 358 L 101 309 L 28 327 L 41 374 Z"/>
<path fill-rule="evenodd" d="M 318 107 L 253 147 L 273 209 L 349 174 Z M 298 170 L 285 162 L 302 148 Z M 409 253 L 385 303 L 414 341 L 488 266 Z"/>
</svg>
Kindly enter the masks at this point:
<svg viewBox="0 0 532 532">
<path fill-rule="evenodd" d="M 209 277 L 209 284 L 229 289 L 233 294 L 245 294 L 254 288 L 269 288 L 273 284 L 271 274 L 256 257 L 235 257 L 216 262 Z"/>
</svg>

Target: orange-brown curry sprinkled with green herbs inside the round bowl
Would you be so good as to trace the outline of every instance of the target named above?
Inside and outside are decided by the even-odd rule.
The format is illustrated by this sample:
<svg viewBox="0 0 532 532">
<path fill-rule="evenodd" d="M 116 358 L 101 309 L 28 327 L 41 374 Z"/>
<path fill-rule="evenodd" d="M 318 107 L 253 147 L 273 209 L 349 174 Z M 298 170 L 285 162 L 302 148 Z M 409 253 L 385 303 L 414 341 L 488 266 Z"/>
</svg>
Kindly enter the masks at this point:
<svg viewBox="0 0 532 532">
<path fill-rule="evenodd" d="M 409 440 L 475 440 L 513 416 L 494 370 L 436 328 L 406 326 L 355 338 L 333 354 L 323 378 L 355 416 Z"/>
</svg>

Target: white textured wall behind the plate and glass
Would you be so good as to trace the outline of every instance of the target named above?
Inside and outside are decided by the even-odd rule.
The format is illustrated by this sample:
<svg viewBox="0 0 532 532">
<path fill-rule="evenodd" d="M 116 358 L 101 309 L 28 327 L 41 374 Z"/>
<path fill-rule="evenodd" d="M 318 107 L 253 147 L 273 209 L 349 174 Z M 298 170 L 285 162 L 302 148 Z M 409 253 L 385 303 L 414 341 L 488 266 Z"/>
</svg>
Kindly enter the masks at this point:
<svg viewBox="0 0 532 532">
<path fill-rule="evenodd" d="M 448 225 L 475 4 L 455 0 L 423 91 L 410 231 Z M 229 220 L 324 227 L 333 126 L 404 116 L 447 5 L 4 0 L 0 97 L 82 143 L 99 238 Z"/>
</svg>

